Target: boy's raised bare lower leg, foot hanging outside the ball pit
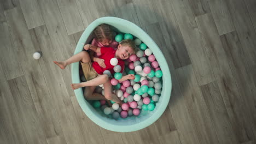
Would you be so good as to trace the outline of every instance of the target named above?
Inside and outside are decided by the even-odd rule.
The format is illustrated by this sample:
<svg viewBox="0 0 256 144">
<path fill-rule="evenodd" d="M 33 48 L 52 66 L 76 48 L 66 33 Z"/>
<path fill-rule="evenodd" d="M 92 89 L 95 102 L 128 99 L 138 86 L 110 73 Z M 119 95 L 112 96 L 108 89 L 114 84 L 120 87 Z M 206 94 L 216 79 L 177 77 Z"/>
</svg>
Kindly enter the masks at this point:
<svg viewBox="0 0 256 144">
<path fill-rule="evenodd" d="M 91 58 L 89 56 L 89 53 L 86 51 L 82 51 L 77 53 L 76 55 L 68 58 L 66 61 L 54 61 L 55 64 L 57 64 L 61 69 L 65 69 L 67 65 L 75 62 L 82 61 L 83 63 L 88 63 L 91 61 Z"/>
</svg>

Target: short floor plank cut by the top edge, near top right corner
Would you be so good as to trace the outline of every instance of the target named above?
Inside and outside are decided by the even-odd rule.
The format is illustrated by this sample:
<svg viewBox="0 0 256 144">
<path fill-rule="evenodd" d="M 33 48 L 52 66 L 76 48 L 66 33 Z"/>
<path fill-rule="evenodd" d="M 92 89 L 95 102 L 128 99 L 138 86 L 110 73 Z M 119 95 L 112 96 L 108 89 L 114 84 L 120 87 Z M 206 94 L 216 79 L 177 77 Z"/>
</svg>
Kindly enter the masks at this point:
<svg viewBox="0 0 256 144">
<path fill-rule="evenodd" d="M 225 1 L 208 0 L 211 13 L 216 23 L 219 35 L 235 31 L 228 6 Z"/>
</svg>

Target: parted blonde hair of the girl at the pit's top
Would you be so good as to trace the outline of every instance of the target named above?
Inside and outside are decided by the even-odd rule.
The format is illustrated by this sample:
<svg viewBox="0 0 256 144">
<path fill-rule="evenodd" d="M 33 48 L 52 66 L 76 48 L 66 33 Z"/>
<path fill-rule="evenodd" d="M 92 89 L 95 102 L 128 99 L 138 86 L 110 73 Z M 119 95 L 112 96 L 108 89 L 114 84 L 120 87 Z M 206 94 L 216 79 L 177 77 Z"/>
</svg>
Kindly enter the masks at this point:
<svg viewBox="0 0 256 144">
<path fill-rule="evenodd" d="M 103 39 L 113 40 L 113 32 L 110 26 L 103 23 L 94 29 L 94 34 L 96 35 L 97 41 L 102 41 Z"/>
</svg>

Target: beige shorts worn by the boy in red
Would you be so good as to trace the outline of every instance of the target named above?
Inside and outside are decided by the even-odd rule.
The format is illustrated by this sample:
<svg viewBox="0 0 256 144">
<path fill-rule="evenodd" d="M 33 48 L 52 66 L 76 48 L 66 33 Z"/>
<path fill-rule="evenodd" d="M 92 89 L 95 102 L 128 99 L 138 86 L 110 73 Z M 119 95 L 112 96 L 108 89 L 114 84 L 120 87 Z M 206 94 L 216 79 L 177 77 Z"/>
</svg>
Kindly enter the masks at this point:
<svg viewBox="0 0 256 144">
<path fill-rule="evenodd" d="M 83 63 L 80 62 L 82 65 L 82 69 L 83 69 L 83 73 L 84 73 L 84 77 L 87 81 L 94 79 L 95 77 L 97 77 L 99 74 L 96 72 L 96 70 L 92 67 L 92 63 L 88 62 L 88 63 Z"/>
</svg>

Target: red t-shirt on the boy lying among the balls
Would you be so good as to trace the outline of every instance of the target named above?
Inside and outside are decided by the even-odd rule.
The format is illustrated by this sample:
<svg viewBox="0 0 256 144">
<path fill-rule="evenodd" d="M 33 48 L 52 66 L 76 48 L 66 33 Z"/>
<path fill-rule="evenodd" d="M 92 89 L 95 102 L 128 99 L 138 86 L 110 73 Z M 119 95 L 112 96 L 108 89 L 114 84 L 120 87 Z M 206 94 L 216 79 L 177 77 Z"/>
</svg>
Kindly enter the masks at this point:
<svg viewBox="0 0 256 144">
<path fill-rule="evenodd" d="M 114 66 L 110 64 L 110 59 L 115 57 L 115 52 L 117 50 L 114 50 L 112 47 L 101 47 L 101 56 L 99 58 L 104 59 L 104 63 L 106 65 L 106 68 L 100 67 L 100 65 L 97 62 L 92 62 L 92 67 L 96 70 L 96 72 L 100 75 L 103 74 L 104 70 L 109 70 L 111 74 L 114 73 Z M 118 65 L 121 66 L 121 72 L 123 73 L 124 70 L 124 61 L 123 59 L 118 58 Z"/>
</svg>

